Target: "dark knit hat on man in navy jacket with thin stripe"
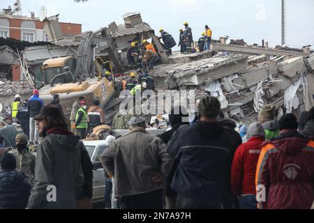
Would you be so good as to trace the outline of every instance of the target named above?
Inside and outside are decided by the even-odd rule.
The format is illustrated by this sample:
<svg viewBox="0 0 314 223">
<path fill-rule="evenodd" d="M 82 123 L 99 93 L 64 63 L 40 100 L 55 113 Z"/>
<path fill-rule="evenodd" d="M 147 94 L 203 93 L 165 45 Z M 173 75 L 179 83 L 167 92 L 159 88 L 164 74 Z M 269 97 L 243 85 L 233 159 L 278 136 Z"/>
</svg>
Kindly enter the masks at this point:
<svg viewBox="0 0 314 223">
<path fill-rule="evenodd" d="M 206 118 L 217 118 L 220 112 L 220 102 L 218 98 L 207 96 L 202 98 L 198 106 L 198 112 Z"/>
</svg>

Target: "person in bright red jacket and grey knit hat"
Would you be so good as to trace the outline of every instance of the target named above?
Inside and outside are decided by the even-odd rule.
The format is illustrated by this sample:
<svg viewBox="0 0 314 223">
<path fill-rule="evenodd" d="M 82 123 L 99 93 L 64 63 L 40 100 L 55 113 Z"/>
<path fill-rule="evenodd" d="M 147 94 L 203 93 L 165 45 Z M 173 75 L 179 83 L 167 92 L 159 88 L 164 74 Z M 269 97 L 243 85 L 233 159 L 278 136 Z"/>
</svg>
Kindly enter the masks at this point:
<svg viewBox="0 0 314 223">
<path fill-rule="evenodd" d="M 241 209 L 256 209 L 256 165 L 258 157 L 260 157 L 260 146 L 265 139 L 262 124 L 252 123 L 248 127 L 246 135 L 248 141 L 241 144 L 234 154 L 231 186 L 234 195 L 239 197 Z"/>
</svg>

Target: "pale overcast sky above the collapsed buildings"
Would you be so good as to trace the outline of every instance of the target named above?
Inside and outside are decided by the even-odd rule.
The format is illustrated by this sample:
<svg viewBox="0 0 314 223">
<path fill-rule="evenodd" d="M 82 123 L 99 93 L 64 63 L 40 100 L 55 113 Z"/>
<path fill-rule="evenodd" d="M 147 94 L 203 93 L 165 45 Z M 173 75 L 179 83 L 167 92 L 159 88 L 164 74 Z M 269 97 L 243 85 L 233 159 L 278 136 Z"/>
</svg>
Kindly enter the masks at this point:
<svg viewBox="0 0 314 223">
<path fill-rule="evenodd" d="M 15 0 L 1 0 L 1 8 Z M 208 24 L 213 38 L 230 36 L 247 43 L 261 43 L 262 38 L 274 47 L 281 44 L 281 0 L 20 0 L 22 14 L 28 10 L 39 17 L 41 6 L 49 15 L 60 14 L 60 22 L 82 24 L 82 31 L 96 30 L 110 22 L 123 23 L 122 15 L 140 12 L 142 20 L 150 24 L 159 35 L 159 28 L 178 40 L 179 27 L 187 21 L 197 40 Z M 154 5 L 152 3 L 155 3 Z M 287 45 L 301 47 L 314 45 L 314 1 L 287 0 Z"/>
</svg>

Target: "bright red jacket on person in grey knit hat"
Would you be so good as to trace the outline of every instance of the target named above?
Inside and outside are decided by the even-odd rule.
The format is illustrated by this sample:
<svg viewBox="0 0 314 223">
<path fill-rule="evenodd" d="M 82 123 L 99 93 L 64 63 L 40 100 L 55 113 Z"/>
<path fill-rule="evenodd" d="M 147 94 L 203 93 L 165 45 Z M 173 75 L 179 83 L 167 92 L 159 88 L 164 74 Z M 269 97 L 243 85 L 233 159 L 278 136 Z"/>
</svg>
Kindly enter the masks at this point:
<svg viewBox="0 0 314 223">
<path fill-rule="evenodd" d="M 256 194 L 255 173 L 262 137 L 251 137 L 241 144 L 234 154 L 231 169 L 231 185 L 234 195 Z"/>
</svg>

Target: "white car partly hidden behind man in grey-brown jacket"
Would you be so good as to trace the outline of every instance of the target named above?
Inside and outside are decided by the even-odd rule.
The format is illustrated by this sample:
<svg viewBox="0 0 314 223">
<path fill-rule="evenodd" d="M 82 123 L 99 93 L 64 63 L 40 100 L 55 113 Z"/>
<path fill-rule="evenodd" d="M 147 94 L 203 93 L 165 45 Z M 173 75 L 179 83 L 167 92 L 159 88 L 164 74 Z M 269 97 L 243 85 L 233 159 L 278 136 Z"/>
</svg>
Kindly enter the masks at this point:
<svg viewBox="0 0 314 223">
<path fill-rule="evenodd" d="M 113 130 L 115 135 L 124 135 L 130 132 L 129 130 Z M 162 134 L 165 130 L 147 129 L 147 132 L 153 135 Z M 84 146 L 91 157 L 93 164 L 93 201 L 100 201 L 104 199 L 105 194 L 105 171 L 103 166 L 100 164 L 100 155 L 105 151 L 107 146 L 105 140 L 96 141 L 83 141 Z"/>
</svg>

